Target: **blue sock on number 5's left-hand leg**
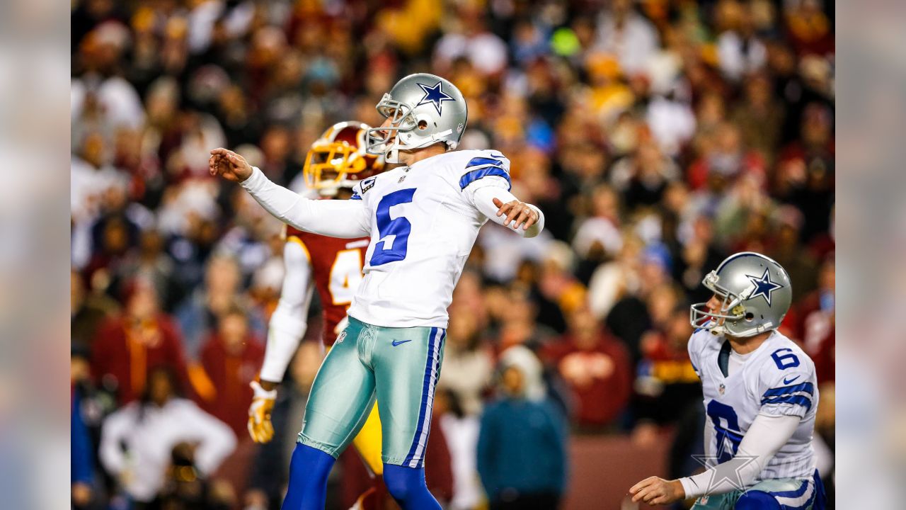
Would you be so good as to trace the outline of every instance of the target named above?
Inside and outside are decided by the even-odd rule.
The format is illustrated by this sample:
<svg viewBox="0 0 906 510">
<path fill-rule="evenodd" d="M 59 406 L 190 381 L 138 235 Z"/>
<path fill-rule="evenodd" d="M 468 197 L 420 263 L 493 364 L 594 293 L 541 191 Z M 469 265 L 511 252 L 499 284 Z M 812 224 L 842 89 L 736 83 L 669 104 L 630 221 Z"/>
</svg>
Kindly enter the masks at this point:
<svg viewBox="0 0 906 510">
<path fill-rule="evenodd" d="M 296 443 L 282 510 L 324 510 L 327 476 L 335 462 L 333 456 L 317 448 Z"/>
</svg>

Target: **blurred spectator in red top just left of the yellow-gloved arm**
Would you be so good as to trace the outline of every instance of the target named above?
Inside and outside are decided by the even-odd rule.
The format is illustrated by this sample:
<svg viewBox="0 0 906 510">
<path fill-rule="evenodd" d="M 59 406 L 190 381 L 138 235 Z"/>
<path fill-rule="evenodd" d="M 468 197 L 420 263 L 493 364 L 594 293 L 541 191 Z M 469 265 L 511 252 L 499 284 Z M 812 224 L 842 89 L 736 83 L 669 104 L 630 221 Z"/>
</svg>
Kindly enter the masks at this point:
<svg viewBox="0 0 906 510">
<path fill-rule="evenodd" d="M 265 358 L 265 348 L 248 329 L 246 312 L 233 305 L 217 319 L 201 349 L 201 365 L 216 389 L 203 404 L 205 410 L 225 422 L 236 436 L 246 434 L 248 403 L 258 367 Z"/>
</svg>

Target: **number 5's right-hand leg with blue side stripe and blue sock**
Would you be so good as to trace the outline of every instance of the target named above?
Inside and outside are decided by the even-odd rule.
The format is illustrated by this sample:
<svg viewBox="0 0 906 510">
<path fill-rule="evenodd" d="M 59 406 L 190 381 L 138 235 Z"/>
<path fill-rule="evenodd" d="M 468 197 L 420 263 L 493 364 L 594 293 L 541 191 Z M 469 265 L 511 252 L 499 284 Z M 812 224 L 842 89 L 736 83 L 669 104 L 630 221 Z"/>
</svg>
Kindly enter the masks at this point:
<svg viewBox="0 0 906 510">
<path fill-rule="evenodd" d="M 375 346 L 384 482 L 403 510 L 440 508 L 423 464 L 445 335 L 439 328 L 382 329 Z"/>
</svg>

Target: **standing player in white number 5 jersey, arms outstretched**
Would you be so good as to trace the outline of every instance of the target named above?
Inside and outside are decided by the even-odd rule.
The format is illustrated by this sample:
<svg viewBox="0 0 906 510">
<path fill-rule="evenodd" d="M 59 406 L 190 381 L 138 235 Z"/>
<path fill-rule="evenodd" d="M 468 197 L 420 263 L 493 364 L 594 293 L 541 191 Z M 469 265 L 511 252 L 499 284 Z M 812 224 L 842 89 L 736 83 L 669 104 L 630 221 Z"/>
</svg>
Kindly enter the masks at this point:
<svg viewBox="0 0 906 510">
<path fill-rule="evenodd" d="M 452 83 L 411 74 L 377 109 L 386 121 L 369 131 L 368 151 L 402 166 L 361 181 L 351 200 L 307 200 L 235 152 L 211 151 L 211 174 L 240 182 L 280 220 L 326 236 L 371 239 L 349 325 L 305 407 L 284 510 L 323 509 L 333 462 L 375 397 L 390 495 L 403 510 L 440 508 L 423 462 L 453 289 L 488 219 L 525 237 L 544 228 L 541 211 L 509 192 L 503 154 L 452 151 L 467 123 L 466 101 Z"/>
</svg>

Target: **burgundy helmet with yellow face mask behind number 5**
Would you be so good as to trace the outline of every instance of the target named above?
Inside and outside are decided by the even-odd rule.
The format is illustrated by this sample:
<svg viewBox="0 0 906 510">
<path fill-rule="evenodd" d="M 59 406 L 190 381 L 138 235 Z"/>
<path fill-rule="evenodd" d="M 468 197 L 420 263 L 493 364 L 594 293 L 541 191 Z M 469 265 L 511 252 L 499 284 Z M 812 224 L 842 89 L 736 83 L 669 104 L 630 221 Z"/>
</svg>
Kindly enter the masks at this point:
<svg viewBox="0 0 906 510">
<path fill-rule="evenodd" d="M 365 152 L 365 133 L 371 127 L 356 122 L 335 123 L 312 143 L 305 156 L 305 184 L 323 196 L 383 172 L 384 157 Z"/>
</svg>

